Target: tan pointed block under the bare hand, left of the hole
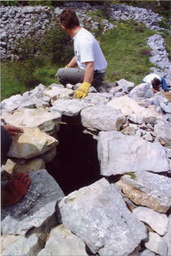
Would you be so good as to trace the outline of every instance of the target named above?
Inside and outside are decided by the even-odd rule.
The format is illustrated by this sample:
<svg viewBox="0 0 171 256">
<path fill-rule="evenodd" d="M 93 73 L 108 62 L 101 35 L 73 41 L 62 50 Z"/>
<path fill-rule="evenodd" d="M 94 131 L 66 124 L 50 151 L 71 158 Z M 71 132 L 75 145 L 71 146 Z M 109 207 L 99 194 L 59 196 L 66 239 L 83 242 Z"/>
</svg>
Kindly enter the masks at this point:
<svg viewBox="0 0 171 256">
<path fill-rule="evenodd" d="M 12 137 L 12 145 L 7 156 L 15 158 L 33 158 L 52 150 L 58 145 L 57 139 L 39 129 L 24 128 L 24 133 Z"/>
</svg>

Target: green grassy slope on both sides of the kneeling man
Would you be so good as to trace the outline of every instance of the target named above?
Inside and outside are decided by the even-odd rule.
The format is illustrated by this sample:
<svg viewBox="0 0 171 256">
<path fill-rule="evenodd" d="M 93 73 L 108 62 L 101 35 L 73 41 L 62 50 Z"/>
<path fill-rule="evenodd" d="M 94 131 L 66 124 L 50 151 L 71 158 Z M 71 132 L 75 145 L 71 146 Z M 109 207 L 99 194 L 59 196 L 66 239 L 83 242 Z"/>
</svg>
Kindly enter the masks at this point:
<svg viewBox="0 0 171 256">
<path fill-rule="evenodd" d="M 138 85 L 150 72 L 150 67 L 154 66 L 149 61 L 149 55 L 142 55 L 141 51 L 149 49 L 145 38 L 156 32 L 146 29 L 144 25 L 138 25 L 140 27 L 138 29 L 133 20 L 115 24 L 118 27 L 97 36 L 108 61 L 105 82 L 114 83 L 120 79 L 126 79 Z M 165 40 L 169 42 L 168 36 Z M 35 70 L 34 77 L 37 83 L 33 87 L 40 83 L 46 86 L 59 83 L 55 78 L 58 68 L 58 66 L 48 65 Z M 17 81 L 10 61 L 1 62 L 1 100 L 30 89 L 31 87 L 27 88 Z"/>
</svg>

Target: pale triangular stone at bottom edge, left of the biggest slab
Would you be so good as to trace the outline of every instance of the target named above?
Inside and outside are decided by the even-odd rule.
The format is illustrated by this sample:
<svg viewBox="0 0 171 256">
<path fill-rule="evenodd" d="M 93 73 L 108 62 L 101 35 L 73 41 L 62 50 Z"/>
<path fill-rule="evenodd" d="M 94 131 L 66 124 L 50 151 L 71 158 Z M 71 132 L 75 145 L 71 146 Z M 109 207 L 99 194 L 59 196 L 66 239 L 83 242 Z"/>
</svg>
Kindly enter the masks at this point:
<svg viewBox="0 0 171 256">
<path fill-rule="evenodd" d="M 69 229 L 59 225 L 50 231 L 46 246 L 37 255 L 88 255 L 84 242 Z"/>
</svg>

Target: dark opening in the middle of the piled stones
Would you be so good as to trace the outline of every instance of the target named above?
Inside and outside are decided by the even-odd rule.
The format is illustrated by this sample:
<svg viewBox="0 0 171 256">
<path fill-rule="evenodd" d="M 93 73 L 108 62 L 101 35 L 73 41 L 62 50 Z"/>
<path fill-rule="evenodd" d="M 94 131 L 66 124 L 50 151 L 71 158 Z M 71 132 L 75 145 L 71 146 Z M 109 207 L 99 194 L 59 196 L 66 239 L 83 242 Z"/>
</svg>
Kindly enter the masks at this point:
<svg viewBox="0 0 171 256">
<path fill-rule="evenodd" d="M 63 193 L 68 195 L 101 178 L 97 158 L 97 141 L 84 134 L 81 125 L 61 124 L 58 132 L 57 156 L 46 165 Z"/>
</svg>

